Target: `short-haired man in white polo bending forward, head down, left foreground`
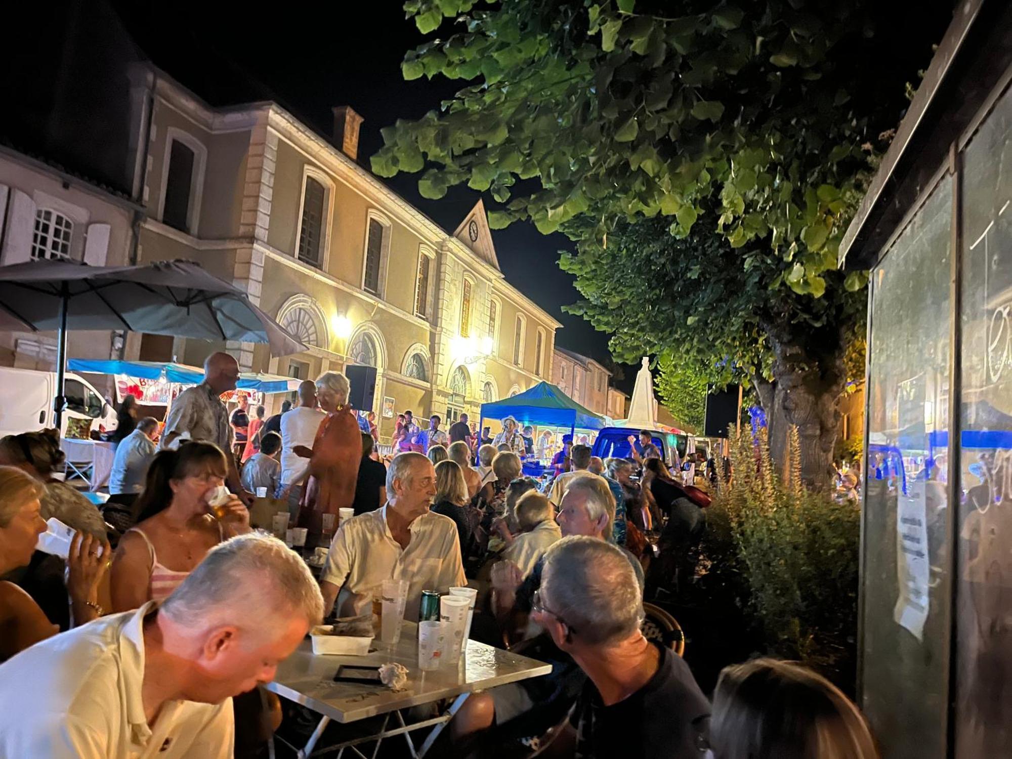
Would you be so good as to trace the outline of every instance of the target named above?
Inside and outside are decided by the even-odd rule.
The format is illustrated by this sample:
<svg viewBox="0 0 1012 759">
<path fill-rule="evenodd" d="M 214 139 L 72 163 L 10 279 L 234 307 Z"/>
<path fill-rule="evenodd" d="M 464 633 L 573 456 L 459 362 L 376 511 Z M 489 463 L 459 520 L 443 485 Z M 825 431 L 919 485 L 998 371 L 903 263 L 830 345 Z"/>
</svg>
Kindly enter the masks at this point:
<svg viewBox="0 0 1012 759">
<path fill-rule="evenodd" d="M 270 682 L 322 616 L 313 576 L 280 540 L 219 543 L 161 606 L 0 666 L 0 756 L 230 759 L 232 696 Z"/>
</svg>

